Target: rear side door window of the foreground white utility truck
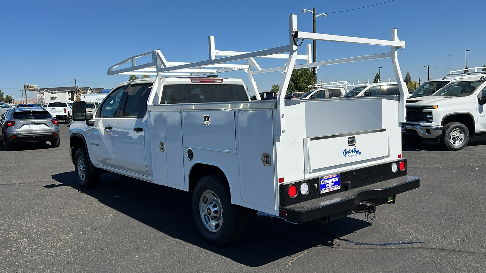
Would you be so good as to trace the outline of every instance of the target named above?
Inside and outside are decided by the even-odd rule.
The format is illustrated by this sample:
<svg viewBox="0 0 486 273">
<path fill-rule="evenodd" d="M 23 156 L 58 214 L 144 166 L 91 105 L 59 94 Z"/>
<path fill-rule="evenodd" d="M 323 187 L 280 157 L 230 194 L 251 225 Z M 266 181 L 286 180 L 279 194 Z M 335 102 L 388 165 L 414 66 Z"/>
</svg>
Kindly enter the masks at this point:
<svg viewBox="0 0 486 273">
<path fill-rule="evenodd" d="M 137 117 L 141 119 L 147 112 L 151 85 L 131 85 L 121 117 Z"/>
</svg>

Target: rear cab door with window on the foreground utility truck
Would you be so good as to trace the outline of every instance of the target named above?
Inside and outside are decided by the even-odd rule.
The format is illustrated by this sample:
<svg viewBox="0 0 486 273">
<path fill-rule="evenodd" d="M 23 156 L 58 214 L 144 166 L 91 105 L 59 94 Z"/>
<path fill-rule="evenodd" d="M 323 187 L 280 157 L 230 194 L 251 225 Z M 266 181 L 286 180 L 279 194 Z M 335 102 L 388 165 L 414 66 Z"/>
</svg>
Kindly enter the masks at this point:
<svg viewBox="0 0 486 273">
<path fill-rule="evenodd" d="M 120 169 L 148 175 L 145 160 L 147 100 L 152 84 L 130 85 L 113 128 L 115 158 Z"/>
</svg>

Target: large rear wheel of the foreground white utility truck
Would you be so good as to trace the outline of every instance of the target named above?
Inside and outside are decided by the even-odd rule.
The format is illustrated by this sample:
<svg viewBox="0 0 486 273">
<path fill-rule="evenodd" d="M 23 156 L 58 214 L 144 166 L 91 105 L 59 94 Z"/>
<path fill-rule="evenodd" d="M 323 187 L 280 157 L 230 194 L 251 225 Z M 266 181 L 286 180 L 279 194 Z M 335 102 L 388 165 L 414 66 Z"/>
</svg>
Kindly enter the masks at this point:
<svg viewBox="0 0 486 273">
<path fill-rule="evenodd" d="M 231 204 L 226 177 L 211 174 L 199 180 L 192 197 L 192 213 L 196 227 L 209 243 L 229 245 L 243 236 L 246 210 Z"/>
</svg>

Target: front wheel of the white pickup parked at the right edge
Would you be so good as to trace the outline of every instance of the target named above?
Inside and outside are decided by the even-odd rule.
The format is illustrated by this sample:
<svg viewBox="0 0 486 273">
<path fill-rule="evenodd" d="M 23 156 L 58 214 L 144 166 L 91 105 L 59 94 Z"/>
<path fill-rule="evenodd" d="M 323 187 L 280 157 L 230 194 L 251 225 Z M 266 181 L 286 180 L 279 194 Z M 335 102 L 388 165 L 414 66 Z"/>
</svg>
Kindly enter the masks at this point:
<svg viewBox="0 0 486 273">
<path fill-rule="evenodd" d="M 444 125 L 440 143 L 450 151 L 464 149 L 469 142 L 469 129 L 461 122 L 449 122 Z"/>
</svg>

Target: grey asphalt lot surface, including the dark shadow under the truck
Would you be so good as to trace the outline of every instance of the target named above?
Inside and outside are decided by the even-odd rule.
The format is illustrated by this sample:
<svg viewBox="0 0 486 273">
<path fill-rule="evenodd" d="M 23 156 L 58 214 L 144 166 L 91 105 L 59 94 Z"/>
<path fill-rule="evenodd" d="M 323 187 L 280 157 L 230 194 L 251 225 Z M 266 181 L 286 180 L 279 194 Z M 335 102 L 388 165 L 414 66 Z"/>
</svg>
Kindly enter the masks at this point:
<svg viewBox="0 0 486 273">
<path fill-rule="evenodd" d="M 229 247 L 204 241 L 191 193 L 102 174 L 78 186 L 61 145 L 0 150 L 0 272 L 486 272 L 486 136 L 458 152 L 403 143 L 421 187 L 331 222 L 259 213 Z M 371 215 L 372 216 L 372 215 Z"/>
</svg>

